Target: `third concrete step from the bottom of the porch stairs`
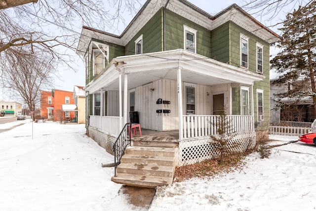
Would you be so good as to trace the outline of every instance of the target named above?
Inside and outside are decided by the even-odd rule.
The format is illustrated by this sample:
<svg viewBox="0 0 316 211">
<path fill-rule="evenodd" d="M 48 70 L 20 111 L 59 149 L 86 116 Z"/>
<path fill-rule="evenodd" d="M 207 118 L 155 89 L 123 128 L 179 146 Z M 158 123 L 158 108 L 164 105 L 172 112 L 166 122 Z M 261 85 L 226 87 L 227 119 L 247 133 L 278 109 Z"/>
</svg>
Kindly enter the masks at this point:
<svg viewBox="0 0 316 211">
<path fill-rule="evenodd" d="M 124 154 L 121 163 L 146 164 L 156 166 L 174 165 L 174 157 Z"/>
</svg>

